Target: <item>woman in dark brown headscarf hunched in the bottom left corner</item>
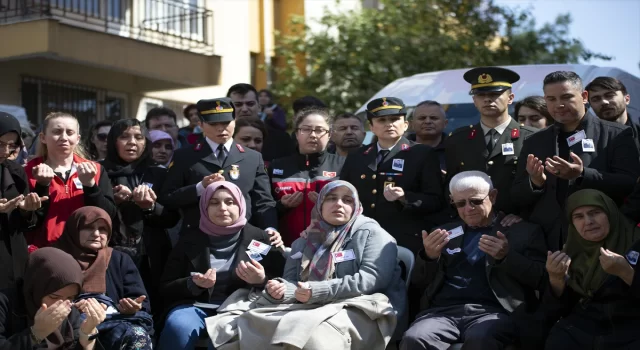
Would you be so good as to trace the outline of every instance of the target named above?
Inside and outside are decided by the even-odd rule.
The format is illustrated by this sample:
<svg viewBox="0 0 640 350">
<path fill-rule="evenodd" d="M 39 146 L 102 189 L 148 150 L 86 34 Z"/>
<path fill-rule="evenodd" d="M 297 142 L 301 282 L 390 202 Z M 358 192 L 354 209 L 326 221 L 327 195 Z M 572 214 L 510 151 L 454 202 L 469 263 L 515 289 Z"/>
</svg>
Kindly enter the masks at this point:
<svg viewBox="0 0 640 350">
<path fill-rule="evenodd" d="M 0 293 L 0 350 L 93 350 L 105 311 L 93 298 L 74 303 L 82 270 L 56 248 L 29 255 L 24 283 Z"/>
</svg>

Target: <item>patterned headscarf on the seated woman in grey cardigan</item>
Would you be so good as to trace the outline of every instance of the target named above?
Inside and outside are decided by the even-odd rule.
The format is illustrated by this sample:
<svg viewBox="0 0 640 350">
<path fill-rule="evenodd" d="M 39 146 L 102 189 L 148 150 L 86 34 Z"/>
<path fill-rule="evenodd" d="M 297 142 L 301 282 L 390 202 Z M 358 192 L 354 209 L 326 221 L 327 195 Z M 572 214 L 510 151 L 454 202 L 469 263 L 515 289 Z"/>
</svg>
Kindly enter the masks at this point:
<svg viewBox="0 0 640 350">
<path fill-rule="evenodd" d="M 322 204 L 331 191 L 343 186 L 351 191 L 354 205 L 353 213 L 346 224 L 333 226 L 322 217 Z M 362 205 L 358 198 L 358 191 L 353 185 L 346 181 L 337 180 L 328 183 L 322 188 L 318 194 L 316 205 L 311 212 L 311 223 L 301 235 L 307 239 L 301 259 L 302 272 L 300 280 L 302 282 L 325 281 L 333 276 L 335 271 L 333 253 L 342 248 L 351 226 L 360 214 L 362 214 Z"/>
</svg>

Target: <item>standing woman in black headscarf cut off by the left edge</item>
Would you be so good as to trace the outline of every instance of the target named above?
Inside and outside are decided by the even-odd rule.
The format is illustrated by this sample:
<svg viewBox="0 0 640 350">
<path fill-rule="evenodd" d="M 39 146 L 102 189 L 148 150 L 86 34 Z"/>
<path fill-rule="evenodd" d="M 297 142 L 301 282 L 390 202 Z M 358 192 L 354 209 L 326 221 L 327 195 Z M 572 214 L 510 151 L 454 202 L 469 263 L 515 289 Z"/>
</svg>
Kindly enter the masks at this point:
<svg viewBox="0 0 640 350">
<path fill-rule="evenodd" d="M 20 130 L 14 116 L 0 112 L 0 289 L 13 287 L 24 275 L 27 241 L 23 232 L 36 225 L 33 211 L 48 199 L 29 193 L 27 174 L 9 159 L 22 144 Z"/>
</svg>

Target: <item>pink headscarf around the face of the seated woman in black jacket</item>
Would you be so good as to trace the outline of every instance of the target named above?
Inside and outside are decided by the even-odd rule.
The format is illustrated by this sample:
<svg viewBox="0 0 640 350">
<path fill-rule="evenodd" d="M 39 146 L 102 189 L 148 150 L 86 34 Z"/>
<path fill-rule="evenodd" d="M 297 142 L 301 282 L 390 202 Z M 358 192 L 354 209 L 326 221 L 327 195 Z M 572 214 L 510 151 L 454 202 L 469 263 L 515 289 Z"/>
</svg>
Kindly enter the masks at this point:
<svg viewBox="0 0 640 350">
<path fill-rule="evenodd" d="M 238 220 L 229 226 L 218 226 L 209 219 L 209 213 L 207 209 L 209 208 L 209 201 L 213 194 L 220 188 L 226 188 L 231 192 L 231 196 L 233 196 L 233 200 L 238 203 L 240 207 L 240 215 L 238 215 Z M 234 185 L 228 181 L 216 181 L 211 185 L 207 186 L 200 196 L 200 230 L 202 232 L 211 235 L 211 236 L 227 236 L 238 233 L 244 225 L 247 224 L 247 203 L 244 201 L 244 196 L 242 195 L 242 191 L 238 186 Z"/>
</svg>

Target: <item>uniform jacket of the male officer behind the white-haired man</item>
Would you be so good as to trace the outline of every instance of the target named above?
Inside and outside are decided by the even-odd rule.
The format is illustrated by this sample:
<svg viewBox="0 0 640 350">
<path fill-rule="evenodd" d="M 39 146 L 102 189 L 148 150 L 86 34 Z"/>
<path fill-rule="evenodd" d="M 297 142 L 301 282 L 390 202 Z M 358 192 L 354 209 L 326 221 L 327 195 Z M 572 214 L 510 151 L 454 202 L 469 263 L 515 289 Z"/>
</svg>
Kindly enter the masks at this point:
<svg viewBox="0 0 640 350">
<path fill-rule="evenodd" d="M 445 192 L 449 192 L 449 182 L 456 174 L 470 170 L 482 171 L 491 177 L 493 187 L 498 190 L 495 210 L 506 214 L 519 213 L 518 202 L 510 199 L 511 185 L 516 176 L 516 167 L 524 139 L 537 130 L 521 126 L 512 119 L 489 154 L 480 123 L 456 129 L 445 143 L 447 163 Z M 513 144 L 513 154 L 503 154 L 502 145 L 506 143 Z M 526 163 L 526 157 L 522 161 Z"/>
</svg>

